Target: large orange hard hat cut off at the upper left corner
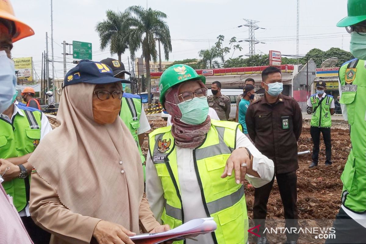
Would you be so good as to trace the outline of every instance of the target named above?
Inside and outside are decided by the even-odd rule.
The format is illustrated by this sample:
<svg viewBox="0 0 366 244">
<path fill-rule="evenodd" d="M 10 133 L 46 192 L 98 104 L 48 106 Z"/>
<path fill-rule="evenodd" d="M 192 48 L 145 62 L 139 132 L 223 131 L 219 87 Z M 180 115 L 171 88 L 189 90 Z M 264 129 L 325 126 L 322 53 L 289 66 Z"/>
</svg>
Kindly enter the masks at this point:
<svg viewBox="0 0 366 244">
<path fill-rule="evenodd" d="M 15 17 L 13 7 L 9 0 L 0 0 L 0 18 L 11 20 L 15 23 L 16 30 L 12 37 L 12 42 L 34 35 L 34 31 L 30 26 Z"/>
</svg>

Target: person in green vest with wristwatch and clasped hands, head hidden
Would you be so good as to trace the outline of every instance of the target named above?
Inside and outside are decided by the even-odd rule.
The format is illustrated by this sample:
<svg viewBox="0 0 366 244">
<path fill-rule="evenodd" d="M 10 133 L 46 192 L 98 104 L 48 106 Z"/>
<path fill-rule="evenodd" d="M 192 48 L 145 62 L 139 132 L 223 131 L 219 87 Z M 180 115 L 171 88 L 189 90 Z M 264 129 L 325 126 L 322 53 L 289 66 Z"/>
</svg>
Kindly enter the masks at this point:
<svg viewBox="0 0 366 244">
<path fill-rule="evenodd" d="M 30 172 L 27 162 L 38 143 L 52 130 L 47 117 L 40 110 L 15 104 L 0 114 L 0 158 L 7 159 L 0 166 L 5 192 L 35 244 L 48 243 L 51 234 L 38 227 L 29 213 Z"/>
</svg>

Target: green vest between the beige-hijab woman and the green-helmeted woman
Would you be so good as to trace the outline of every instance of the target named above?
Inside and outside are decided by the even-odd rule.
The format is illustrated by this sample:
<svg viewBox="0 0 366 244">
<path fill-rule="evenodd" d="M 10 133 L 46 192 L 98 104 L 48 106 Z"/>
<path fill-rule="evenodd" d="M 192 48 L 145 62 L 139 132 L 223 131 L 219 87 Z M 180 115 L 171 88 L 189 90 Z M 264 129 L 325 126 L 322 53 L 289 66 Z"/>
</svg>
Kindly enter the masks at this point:
<svg viewBox="0 0 366 244">
<path fill-rule="evenodd" d="M 127 97 L 125 97 L 127 96 Z M 138 95 L 123 93 L 122 107 L 119 117 L 123 120 L 124 124 L 130 130 L 133 138 L 135 139 L 137 148 L 140 153 L 141 162 L 145 162 L 145 157 L 142 154 L 140 143 L 138 141 L 138 128 L 140 127 L 142 102 L 141 97 Z M 129 111 L 129 112 L 127 112 Z M 145 165 L 143 167 L 143 178 L 145 179 Z"/>
</svg>

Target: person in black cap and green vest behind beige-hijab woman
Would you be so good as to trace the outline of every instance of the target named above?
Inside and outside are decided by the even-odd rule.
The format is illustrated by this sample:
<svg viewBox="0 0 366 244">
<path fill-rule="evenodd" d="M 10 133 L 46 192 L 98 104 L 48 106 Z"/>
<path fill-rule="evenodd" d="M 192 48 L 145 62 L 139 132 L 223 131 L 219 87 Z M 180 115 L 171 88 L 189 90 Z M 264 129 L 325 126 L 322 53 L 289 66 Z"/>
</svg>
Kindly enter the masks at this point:
<svg viewBox="0 0 366 244">
<path fill-rule="evenodd" d="M 129 80 L 125 79 L 125 74 L 131 74 L 125 70 L 124 64 L 121 61 L 108 58 L 103 59 L 100 62 L 111 67 L 114 77 L 123 79 L 126 83 L 131 83 Z M 147 120 L 145 110 L 142 106 L 141 97 L 139 95 L 126 92 L 123 93 L 120 118 L 123 120 L 124 124 L 126 124 L 135 139 L 140 152 L 141 161 L 143 163 L 142 167 L 145 179 L 145 157 L 142 153 L 141 147 L 145 138 L 145 133 L 149 131 L 151 127 L 149 120 Z"/>
</svg>

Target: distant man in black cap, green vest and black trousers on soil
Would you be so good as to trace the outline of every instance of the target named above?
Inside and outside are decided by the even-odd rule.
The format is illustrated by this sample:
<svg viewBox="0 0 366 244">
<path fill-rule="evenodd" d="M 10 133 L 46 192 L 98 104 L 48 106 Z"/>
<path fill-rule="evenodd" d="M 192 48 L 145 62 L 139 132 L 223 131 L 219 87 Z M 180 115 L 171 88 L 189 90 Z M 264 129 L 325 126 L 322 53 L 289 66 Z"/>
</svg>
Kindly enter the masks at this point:
<svg viewBox="0 0 366 244">
<path fill-rule="evenodd" d="M 334 99 L 332 95 L 326 94 L 326 85 L 324 81 L 317 81 L 315 85 L 317 90 L 316 94 L 313 94 L 307 100 L 307 106 L 313 108 L 313 116 L 310 121 L 310 135 L 313 139 L 313 162 L 309 168 L 318 166 L 319 162 L 319 144 L 320 144 L 320 132 L 323 134 L 325 144 L 325 165 L 332 164 L 332 140 L 330 137 L 330 127 L 332 126 L 332 116 L 334 115 Z"/>
</svg>

